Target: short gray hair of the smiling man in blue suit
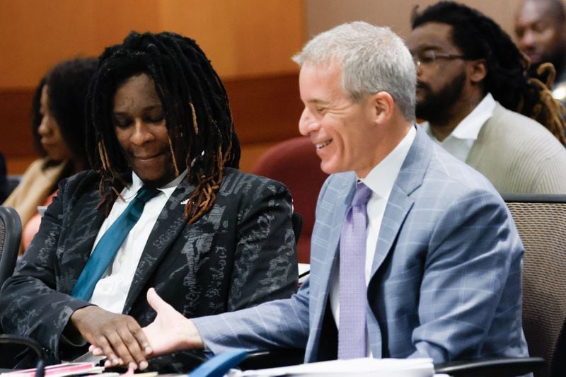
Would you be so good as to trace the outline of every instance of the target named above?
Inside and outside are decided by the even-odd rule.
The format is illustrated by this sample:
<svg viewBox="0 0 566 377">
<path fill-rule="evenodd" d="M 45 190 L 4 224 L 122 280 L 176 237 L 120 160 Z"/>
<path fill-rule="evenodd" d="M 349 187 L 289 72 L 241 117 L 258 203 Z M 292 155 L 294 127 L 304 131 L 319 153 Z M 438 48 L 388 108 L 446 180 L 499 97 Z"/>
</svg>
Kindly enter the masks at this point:
<svg viewBox="0 0 566 377">
<path fill-rule="evenodd" d="M 342 90 L 352 102 L 384 91 L 405 119 L 415 120 L 415 63 L 403 40 L 389 28 L 344 23 L 313 37 L 292 59 L 299 66 L 340 64 Z"/>
</svg>

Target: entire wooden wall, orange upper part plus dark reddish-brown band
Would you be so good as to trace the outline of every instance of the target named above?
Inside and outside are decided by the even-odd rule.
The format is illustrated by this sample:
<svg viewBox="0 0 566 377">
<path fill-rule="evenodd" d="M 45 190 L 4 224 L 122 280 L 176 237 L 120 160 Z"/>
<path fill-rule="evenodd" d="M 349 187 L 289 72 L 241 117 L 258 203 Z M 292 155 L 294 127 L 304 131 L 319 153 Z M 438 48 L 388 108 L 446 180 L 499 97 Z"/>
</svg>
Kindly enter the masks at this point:
<svg viewBox="0 0 566 377">
<path fill-rule="evenodd" d="M 36 158 L 33 90 L 62 59 L 98 56 L 130 30 L 195 38 L 226 82 L 243 166 L 295 136 L 300 102 L 293 54 L 304 42 L 303 0 L 0 0 L 0 151 L 9 173 Z M 251 144 L 250 144 L 251 143 Z"/>
</svg>

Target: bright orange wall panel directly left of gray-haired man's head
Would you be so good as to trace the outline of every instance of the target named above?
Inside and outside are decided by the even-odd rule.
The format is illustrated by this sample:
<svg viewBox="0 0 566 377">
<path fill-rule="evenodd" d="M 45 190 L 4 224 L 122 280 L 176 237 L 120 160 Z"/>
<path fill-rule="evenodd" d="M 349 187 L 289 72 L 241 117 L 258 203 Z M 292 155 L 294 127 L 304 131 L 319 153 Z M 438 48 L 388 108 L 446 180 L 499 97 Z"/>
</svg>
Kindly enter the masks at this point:
<svg viewBox="0 0 566 377">
<path fill-rule="evenodd" d="M 162 24 L 194 36 L 222 77 L 297 71 L 291 56 L 304 42 L 301 0 L 185 4 L 164 1 Z"/>
</svg>

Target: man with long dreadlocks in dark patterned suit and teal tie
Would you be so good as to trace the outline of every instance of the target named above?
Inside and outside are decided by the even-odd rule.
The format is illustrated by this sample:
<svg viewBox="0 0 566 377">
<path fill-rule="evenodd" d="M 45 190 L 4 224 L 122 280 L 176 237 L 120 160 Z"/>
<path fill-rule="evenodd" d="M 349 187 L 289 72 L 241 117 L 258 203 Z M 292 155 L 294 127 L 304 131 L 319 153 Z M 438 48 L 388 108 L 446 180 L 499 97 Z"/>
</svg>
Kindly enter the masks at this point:
<svg viewBox="0 0 566 377">
<path fill-rule="evenodd" d="M 93 170 L 59 185 L 1 291 L 0 323 L 39 341 L 50 362 L 91 343 L 107 365 L 145 369 L 149 287 L 187 318 L 296 291 L 291 197 L 237 169 L 226 91 L 194 40 L 133 32 L 99 59 L 87 105 Z M 183 359 L 156 368 L 186 371 Z"/>
</svg>

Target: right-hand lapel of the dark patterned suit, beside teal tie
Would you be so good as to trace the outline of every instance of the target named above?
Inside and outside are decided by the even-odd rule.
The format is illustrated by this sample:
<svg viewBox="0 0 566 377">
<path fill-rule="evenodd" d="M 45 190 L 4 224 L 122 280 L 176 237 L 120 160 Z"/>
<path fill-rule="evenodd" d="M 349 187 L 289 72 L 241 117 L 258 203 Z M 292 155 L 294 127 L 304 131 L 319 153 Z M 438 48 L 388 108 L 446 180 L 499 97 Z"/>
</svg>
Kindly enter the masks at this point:
<svg viewBox="0 0 566 377">
<path fill-rule="evenodd" d="M 159 214 L 156 224 L 149 234 L 144 251 L 139 258 L 123 313 L 129 313 L 132 309 L 132 305 L 137 300 L 154 269 L 156 269 L 161 257 L 168 252 L 171 244 L 185 228 L 187 224 L 184 214 L 185 204 L 181 204 L 181 202 L 187 199 L 194 189 L 194 186 L 190 185 L 186 179 L 183 179 L 171 197 L 169 197 L 165 207 L 161 210 L 161 214 Z"/>
</svg>

